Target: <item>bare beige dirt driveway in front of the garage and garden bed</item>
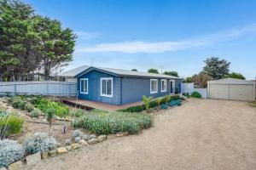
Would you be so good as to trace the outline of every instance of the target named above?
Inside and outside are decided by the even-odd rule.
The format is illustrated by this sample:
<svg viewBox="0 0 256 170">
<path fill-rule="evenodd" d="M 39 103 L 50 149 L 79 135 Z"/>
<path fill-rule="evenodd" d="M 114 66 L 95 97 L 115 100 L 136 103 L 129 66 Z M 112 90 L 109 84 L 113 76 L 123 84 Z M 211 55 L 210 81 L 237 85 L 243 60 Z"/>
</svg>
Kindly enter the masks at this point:
<svg viewBox="0 0 256 170">
<path fill-rule="evenodd" d="M 139 135 L 108 139 L 25 169 L 256 169 L 256 108 L 189 99 L 155 116 L 154 127 Z"/>
</svg>

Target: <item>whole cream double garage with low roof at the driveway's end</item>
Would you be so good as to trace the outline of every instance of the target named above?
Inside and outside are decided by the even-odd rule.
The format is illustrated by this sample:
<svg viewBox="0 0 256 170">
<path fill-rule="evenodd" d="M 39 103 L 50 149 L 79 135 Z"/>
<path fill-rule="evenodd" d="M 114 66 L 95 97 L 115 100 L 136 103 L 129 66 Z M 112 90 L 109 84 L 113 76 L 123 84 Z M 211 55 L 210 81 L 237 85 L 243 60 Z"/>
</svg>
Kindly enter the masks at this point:
<svg viewBox="0 0 256 170">
<path fill-rule="evenodd" d="M 207 82 L 210 99 L 255 100 L 255 82 L 236 78 L 224 78 Z"/>
</svg>

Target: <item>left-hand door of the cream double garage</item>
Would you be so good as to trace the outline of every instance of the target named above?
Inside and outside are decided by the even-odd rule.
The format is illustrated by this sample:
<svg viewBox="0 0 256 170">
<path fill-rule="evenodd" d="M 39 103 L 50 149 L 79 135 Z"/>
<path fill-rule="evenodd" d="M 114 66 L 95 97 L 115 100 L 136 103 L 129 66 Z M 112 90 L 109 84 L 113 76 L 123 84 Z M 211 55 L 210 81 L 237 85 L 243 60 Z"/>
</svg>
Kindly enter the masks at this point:
<svg viewBox="0 0 256 170">
<path fill-rule="evenodd" d="M 211 99 L 229 99 L 229 85 L 210 84 L 209 98 Z"/>
</svg>

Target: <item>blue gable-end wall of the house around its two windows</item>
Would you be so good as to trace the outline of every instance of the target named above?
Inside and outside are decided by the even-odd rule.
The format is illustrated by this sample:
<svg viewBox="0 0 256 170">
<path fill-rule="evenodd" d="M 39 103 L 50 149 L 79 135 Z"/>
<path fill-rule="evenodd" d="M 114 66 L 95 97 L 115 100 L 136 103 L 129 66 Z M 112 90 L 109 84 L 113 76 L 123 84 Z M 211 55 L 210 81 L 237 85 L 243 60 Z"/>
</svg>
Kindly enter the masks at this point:
<svg viewBox="0 0 256 170">
<path fill-rule="evenodd" d="M 113 78 L 113 98 L 101 96 L 101 78 Z M 88 94 L 80 94 L 80 78 L 88 78 Z M 121 79 L 100 71 L 90 71 L 78 77 L 79 99 L 89 99 L 113 105 L 121 105 Z"/>
</svg>

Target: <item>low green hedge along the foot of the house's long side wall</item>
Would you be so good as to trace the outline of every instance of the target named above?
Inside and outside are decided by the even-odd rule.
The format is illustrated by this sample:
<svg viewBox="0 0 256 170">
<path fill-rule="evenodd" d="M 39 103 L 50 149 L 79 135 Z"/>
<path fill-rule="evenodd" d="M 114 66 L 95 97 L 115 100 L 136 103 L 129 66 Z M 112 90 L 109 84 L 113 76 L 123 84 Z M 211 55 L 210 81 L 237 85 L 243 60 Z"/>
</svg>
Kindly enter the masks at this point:
<svg viewBox="0 0 256 170">
<path fill-rule="evenodd" d="M 170 96 L 170 99 L 168 102 L 170 102 L 171 100 L 177 100 L 177 99 L 180 99 L 179 95 L 171 95 Z M 165 101 L 165 96 L 162 98 L 161 102 L 160 102 L 160 105 L 162 104 L 166 104 L 166 101 Z M 150 105 L 149 105 L 149 108 L 154 108 L 157 106 L 157 102 L 156 102 L 156 99 L 152 100 L 150 102 Z M 145 106 L 144 105 L 134 105 L 134 106 L 131 106 L 131 107 L 128 107 L 128 108 L 125 108 L 125 109 L 121 109 L 119 111 L 122 111 L 122 112 L 141 112 L 141 111 L 144 111 L 145 110 Z"/>
</svg>

